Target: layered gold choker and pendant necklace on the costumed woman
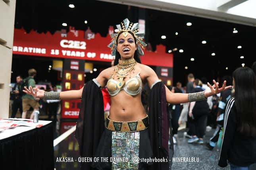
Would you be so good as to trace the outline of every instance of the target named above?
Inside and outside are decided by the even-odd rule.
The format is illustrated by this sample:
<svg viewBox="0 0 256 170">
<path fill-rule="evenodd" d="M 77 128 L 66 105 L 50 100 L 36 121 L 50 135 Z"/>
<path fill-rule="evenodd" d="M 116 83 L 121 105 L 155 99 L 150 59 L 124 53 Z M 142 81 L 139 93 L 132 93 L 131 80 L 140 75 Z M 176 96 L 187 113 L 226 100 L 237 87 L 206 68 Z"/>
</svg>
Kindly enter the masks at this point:
<svg viewBox="0 0 256 170">
<path fill-rule="evenodd" d="M 129 73 L 130 73 L 129 78 L 131 78 L 131 71 L 133 70 L 133 73 L 135 72 L 135 64 L 136 64 L 135 59 L 129 59 L 129 60 L 119 59 L 118 60 L 117 67 L 121 68 L 121 70 L 118 70 L 118 68 L 115 67 L 115 69 L 114 69 L 115 74 L 114 74 L 114 72 L 112 73 L 112 75 L 114 74 L 114 77 L 117 74 L 117 77 L 119 78 L 119 80 L 116 83 L 118 89 L 123 87 L 123 85 L 125 83 L 125 81 L 123 79 L 125 77 L 127 77 Z M 129 68 L 129 69 L 126 69 L 126 68 Z M 112 75 L 110 76 L 110 78 L 112 78 Z M 114 79 L 114 77 L 113 77 L 113 79 Z"/>
</svg>

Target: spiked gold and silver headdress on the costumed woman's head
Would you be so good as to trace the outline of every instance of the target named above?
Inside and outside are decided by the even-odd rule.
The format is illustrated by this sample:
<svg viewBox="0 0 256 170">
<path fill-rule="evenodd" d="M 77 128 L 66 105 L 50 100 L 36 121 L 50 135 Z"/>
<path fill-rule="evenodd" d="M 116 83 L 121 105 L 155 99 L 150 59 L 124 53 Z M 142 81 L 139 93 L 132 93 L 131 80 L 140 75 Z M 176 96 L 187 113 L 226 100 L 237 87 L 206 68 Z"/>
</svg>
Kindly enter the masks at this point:
<svg viewBox="0 0 256 170">
<path fill-rule="evenodd" d="M 115 31 L 116 33 L 111 34 L 111 43 L 108 45 L 108 47 L 111 48 L 112 50 L 112 56 L 115 55 L 116 52 L 116 39 L 117 36 L 120 32 L 123 32 L 123 36 L 126 37 L 128 35 L 128 32 L 132 32 L 133 35 L 135 36 L 135 38 L 137 39 L 137 50 L 139 51 L 139 55 L 144 55 L 142 49 L 144 49 L 144 47 L 146 47 L 146 43 L 143 42 L 143 38 L 145 33 L 141 33 L 139 32 L 139 23 L 131 23 L 127 18 L 124 19 L 121 22 L 121 25 L 116 25 L 117 27 L 117 31 Z"/>
</svg>

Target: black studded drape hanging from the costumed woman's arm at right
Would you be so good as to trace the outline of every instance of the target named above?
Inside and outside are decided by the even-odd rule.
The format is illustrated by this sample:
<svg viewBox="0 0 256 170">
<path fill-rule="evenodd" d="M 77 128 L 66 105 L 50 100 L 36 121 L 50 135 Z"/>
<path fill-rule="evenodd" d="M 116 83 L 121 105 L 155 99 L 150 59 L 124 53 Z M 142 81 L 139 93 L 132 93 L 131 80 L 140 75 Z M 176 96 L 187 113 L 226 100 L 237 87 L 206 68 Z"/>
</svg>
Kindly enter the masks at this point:
<svg viewBox="0 0 256 170">
<path fill-rule="evenodd" d="M 166 110 L 166 89 L 162 82 L 156 83 L 150 91 L 148 118 L 150 144 L 154 157 L 172 161 L 173 142 L 171 138 L 171 157 L 169 157 L 169 116 Z M 149 170 L 169 170 L 169 161 L 156 162 L 148 168 Z"/>
</svg>

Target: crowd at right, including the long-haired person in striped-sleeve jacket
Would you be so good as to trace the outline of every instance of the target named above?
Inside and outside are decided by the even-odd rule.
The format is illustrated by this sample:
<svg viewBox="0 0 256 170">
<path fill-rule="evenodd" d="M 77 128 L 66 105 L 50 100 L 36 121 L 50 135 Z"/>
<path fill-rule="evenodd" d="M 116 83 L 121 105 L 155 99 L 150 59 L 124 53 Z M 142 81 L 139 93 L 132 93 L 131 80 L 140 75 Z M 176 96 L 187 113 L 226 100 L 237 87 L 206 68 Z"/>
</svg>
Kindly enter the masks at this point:
<svg viewBox="0 0 256 170">
<path fill-rule="evenodd" d="M 251 170 L 256 168 L 256 62 L 252 68 L 237 68 L 232 76 L 223 76 L 226 85 L 232 85 L 208 100 L 169 105 L 171 117 L 170 134 L 176 144 L 177 129 L 186 123 L 184 136 L 188 144 L 206 144 L 212 150 L 218 144 L 221 167 L 229 162 L 231 170 Z M 194 79 L 188 75 L 187 87 L 168 86 L 173 93 L 195 93 L 204 91 L 207 80 Z M 184 89 L 184 92 L 182 90 Z M 182 109 L 181 109 L 182 108 Z M 204 141 L 206 127 L 216 129 L 210 141 Z"/>
</svg>

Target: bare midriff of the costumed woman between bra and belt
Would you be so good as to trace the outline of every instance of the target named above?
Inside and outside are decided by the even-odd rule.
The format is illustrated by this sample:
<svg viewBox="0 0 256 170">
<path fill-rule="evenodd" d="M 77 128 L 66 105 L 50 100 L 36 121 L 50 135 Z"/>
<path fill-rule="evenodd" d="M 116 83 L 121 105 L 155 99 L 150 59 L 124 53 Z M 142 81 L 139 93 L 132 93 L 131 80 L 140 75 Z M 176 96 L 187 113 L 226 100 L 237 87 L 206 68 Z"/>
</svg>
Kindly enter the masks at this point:
<svg viewBox="0 0 256 170">
<path fill-rule="evenodd" d="M 109 118 L 113 121 L 137 121 L 145 116 L 141 94 L 131 96 L 122 90 L 111 97 Z"/>
</svg>

